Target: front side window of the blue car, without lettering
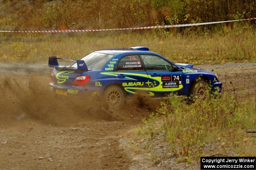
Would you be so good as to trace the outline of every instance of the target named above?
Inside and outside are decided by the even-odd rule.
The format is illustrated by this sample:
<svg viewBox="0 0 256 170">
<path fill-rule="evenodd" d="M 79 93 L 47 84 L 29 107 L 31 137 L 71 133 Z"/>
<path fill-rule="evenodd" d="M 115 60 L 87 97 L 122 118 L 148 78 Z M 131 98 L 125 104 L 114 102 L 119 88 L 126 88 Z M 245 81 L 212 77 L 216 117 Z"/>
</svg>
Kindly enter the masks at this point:
<svg viewBox="0 0 256 170">
<path fill-rule="evenodd" d="M 156 55 L 141 55 L 146 70 L 170 70 L 172 64 Z"/>
</svg>

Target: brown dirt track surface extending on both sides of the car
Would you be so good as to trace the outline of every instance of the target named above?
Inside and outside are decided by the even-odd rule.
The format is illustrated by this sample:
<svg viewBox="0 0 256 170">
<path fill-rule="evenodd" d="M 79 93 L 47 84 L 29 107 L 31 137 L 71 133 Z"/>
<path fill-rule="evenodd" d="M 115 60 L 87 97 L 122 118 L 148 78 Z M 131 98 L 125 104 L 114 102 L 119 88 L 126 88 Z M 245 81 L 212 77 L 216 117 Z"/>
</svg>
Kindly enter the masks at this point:
<svg viewBox="0 0 256 170">
<path fill-rule="evenodd" d="M 48 91 L 47 64 L 0 67 L 0 169 L 141 169 L 119 141 L 157 103 L 149 108 L 135 98 L 111 110 L 97 97 Z M 224 91 L 255 91 L 255 63 L 195 67 L 214 70 Z"/>
</svg>

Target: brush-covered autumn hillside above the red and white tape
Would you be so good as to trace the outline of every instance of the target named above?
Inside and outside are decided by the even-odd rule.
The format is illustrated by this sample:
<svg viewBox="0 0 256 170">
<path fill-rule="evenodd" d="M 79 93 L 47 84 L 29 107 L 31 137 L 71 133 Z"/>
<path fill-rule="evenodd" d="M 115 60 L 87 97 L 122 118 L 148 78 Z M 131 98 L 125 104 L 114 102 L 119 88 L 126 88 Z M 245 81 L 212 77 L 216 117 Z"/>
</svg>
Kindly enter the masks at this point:
<svg viewBox="0 0 256 170">
<path fill-rule="evenodd" d="M 16 29 L 104 29 L 255 17 L 251 0 L 0 1 L 0 25 Z M 255 24 L 255 21 L 251 21 Z M 216 25 L 200 27 L 213 31 Z M 181 28 L 179 31 L 184 31 Z M 195 29 L 196 30 L 196 29 Z"/>
</svg>

